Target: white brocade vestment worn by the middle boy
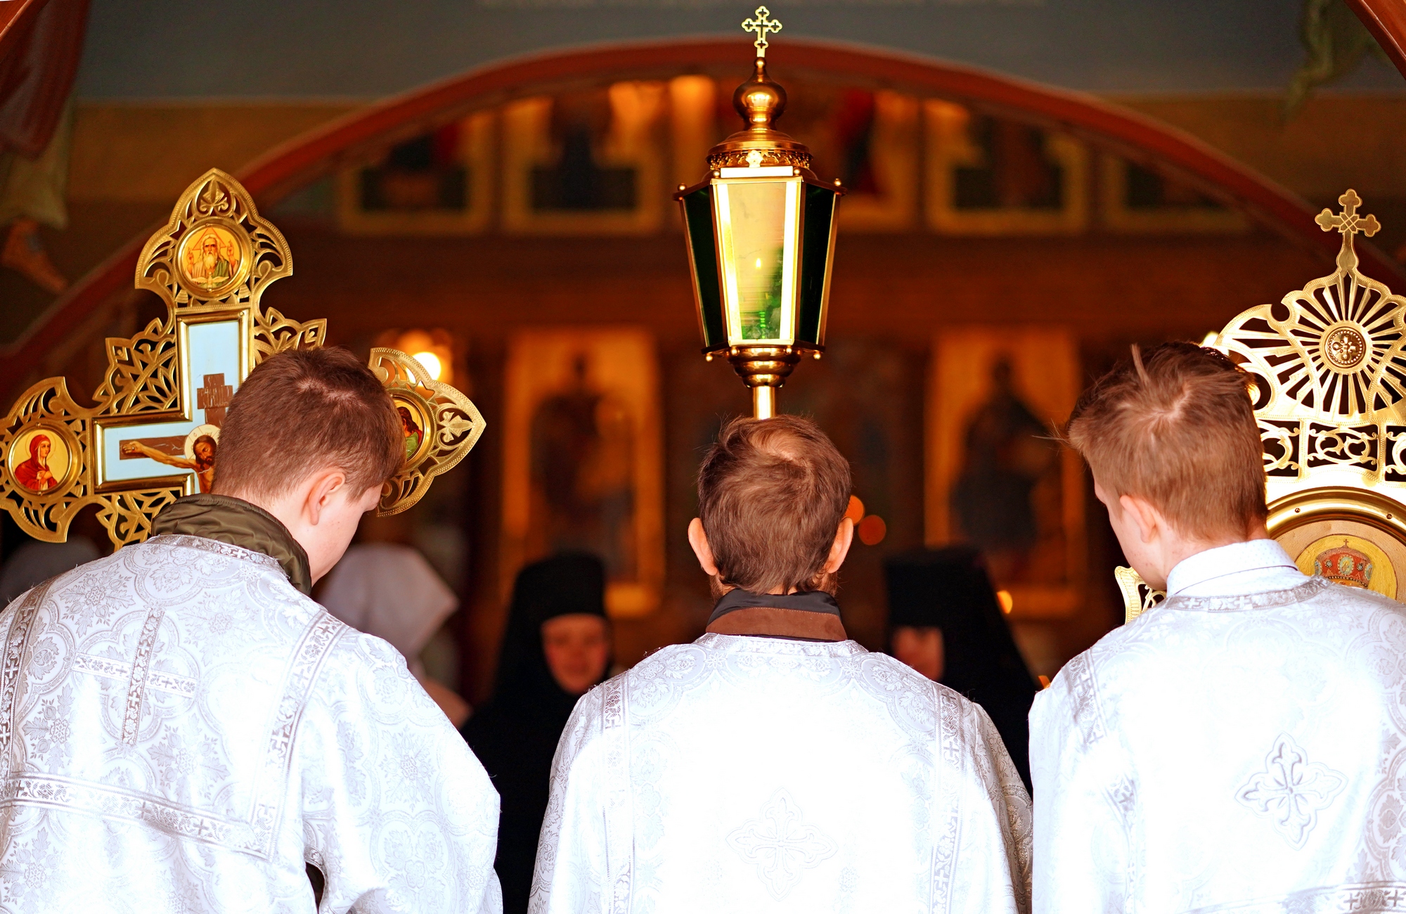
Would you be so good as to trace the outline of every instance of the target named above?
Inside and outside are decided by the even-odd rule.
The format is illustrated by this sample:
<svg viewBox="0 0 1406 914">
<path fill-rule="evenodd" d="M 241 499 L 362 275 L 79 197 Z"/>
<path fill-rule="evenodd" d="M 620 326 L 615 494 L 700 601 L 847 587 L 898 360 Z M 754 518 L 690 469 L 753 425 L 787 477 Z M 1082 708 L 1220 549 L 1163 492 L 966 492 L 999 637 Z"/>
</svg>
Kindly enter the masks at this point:
<svg viewBox="0 0 1406 914">
<path fill-rule="evenodd" d="M 533 914 L 1026 911 L 1029 799 L 977 704 L 853 641 L 706 634 L 586 693 Z"/>
</svg>

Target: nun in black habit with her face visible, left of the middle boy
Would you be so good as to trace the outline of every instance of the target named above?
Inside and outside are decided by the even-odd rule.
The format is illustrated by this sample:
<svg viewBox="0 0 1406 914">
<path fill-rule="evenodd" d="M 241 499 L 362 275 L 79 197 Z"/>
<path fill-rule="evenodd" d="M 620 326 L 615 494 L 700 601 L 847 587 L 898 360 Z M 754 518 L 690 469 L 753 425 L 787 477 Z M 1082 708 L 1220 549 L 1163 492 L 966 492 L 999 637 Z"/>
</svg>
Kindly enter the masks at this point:
<svg viewBox="0 0 1406 914">
<path fill-rule="evenodd" d="M 461 728 L 502 802 L 494 869 L 505 914 L 527 911 L 557 741 L 576 699 L 605 681 L 609 668 L 600 560 L 562 553 L 523 568 L 494 695 Z"/>
</svg>

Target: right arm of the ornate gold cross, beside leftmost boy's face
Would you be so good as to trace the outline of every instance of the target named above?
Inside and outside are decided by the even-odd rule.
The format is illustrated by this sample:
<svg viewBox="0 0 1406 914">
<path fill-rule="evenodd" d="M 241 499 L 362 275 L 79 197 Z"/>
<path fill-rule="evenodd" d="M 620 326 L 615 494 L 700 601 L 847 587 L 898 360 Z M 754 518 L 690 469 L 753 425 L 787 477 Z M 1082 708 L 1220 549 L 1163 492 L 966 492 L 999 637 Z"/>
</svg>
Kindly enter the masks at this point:
<svg viewBox="0 0 1406 914">
<path fill-rule="evenodd" d="M 405 468 L 385 484 L 377 510 L 398 515 L 420 501 L 434 477 L 468 456 L 486 423 L 471 399 L 430 378 L 398 349 L 373 349 L 371 370 L 389 391 L 406 433 Z"/>
</svg>

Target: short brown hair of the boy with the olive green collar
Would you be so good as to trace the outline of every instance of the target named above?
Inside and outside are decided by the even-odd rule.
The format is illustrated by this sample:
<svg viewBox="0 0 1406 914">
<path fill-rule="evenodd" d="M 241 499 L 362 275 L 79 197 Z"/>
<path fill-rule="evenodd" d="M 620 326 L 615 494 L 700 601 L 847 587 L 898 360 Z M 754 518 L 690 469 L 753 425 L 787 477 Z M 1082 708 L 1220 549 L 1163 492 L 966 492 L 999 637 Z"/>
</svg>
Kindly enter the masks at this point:
<svg viewBox="0 0 1406 914">
<path fill-rule="evenodd" d="M 404 461 L 401 419 L 371 370 L 344 349 L 295 349 L 264 359 L 229 401 L 215 491 L 278 498 L 332 465 L 363 492 Z"/>
</svg>

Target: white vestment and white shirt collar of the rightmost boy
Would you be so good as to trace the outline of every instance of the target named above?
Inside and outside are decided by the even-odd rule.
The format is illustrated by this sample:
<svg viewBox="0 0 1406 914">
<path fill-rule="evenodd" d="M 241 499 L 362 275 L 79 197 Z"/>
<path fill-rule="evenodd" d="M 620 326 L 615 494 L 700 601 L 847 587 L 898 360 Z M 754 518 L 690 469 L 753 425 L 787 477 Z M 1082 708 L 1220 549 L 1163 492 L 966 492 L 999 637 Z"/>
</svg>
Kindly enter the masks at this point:
<svg viewBox="0 0 1406 914">
<path fill-rule="evenodd" d="M 1035 699 L 1035 911 L 1406 911 L 1406 607 L 1268 541 L 1170 578 Z"/>
</svg>

